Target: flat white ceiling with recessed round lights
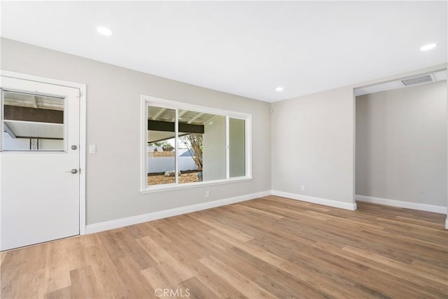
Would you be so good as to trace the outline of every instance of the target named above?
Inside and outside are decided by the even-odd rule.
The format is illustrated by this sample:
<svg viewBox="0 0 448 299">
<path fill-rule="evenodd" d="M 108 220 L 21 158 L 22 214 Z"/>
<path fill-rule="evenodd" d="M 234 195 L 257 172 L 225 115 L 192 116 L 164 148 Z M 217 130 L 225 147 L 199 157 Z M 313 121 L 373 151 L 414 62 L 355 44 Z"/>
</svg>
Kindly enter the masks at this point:
<svg viewBox="0 0 448 299">
<path fill-rule="evenodd" d="M 1 36 L 275 102 L 446 63 L 447 1 L 1 1 Z"/>
</svg>

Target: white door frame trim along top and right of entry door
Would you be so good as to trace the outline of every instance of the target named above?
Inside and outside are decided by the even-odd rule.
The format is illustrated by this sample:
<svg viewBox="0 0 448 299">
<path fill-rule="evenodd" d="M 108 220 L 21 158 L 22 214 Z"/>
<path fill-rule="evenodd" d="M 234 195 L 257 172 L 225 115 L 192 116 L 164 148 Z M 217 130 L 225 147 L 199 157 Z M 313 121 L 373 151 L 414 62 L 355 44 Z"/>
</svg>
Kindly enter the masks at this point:
<svg viewBox="0 0 448 299">
<path fill-rule="evenodd" d="M 61 85 L 69 88 L 78 88 L 79 97 L 79 235 L 85 235 L 85 153 L 86 153 L 86 87 L 84 83 L 76 83 L 70 81 L 62 81 L 58 79 L 45 78 L 29 74 L 22 74 L 15 71 L 0 70 L 0 76 L 10 77 L 38 83 L 47 83 L 52 85 Z M 3 107 L 2 107 L 3 108 Z"/>
</svg>

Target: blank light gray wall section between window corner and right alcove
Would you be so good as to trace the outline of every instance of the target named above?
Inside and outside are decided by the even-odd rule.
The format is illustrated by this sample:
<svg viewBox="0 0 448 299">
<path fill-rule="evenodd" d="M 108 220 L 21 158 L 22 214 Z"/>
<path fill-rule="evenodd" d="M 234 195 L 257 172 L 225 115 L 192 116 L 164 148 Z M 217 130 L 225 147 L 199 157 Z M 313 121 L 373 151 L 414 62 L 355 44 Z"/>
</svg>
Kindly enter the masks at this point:
<svg viewBox="0 0 448 299">
<path fill-rule="evenodd" d="M 272 109 L 272 190 L 353 202 L 353 88 Z"/>
</svg>

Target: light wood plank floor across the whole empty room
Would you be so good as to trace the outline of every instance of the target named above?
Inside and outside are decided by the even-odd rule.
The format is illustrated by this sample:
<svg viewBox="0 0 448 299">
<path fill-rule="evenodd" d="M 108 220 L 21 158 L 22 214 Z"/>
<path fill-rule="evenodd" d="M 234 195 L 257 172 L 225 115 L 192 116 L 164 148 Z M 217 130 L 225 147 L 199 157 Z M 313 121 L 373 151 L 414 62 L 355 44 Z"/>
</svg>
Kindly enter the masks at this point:
<svg viewBox="0 0 448 299">
<path fill-rule="evenodd" d="M 268 196 L 3 252 L 1 298 L 448 298 L 444 220 Z"/>
</svg>

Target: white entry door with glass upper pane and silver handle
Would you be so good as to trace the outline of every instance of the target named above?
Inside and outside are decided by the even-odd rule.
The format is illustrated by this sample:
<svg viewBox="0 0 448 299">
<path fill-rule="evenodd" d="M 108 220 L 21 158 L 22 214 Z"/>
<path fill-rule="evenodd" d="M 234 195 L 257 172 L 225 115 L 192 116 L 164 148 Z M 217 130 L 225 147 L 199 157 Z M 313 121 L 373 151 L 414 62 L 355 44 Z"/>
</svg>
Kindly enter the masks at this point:
<svg viewBox="0 0 448 299">
<path fill-rule="evenodd" d="M 79 235 L 80 92 L 1 76 L 1 250 Z"/>
</svg>

